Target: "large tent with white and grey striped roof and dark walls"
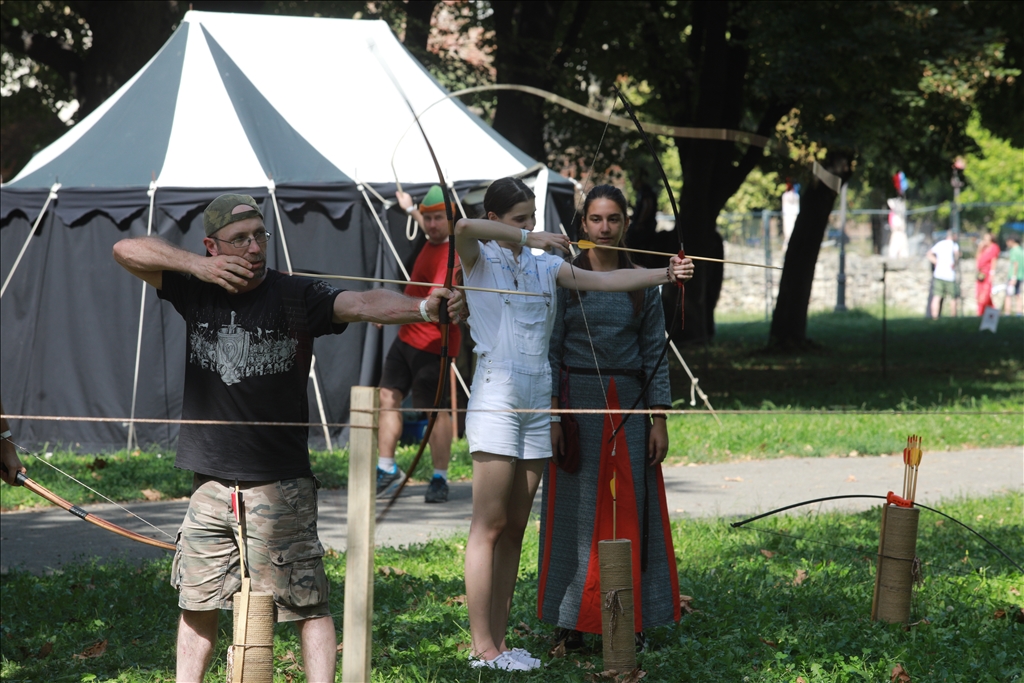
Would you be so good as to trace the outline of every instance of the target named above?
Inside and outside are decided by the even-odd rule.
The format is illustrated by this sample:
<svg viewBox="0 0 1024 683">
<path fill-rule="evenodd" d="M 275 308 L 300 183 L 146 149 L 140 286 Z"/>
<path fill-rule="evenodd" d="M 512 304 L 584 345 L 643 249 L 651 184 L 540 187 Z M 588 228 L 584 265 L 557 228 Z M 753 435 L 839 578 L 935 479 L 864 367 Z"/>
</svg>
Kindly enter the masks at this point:
<svg viewBox="0 0 1024 683">
<path fill-rule="evenodd" d="M 417 112 L 445 95 L 382 22 L 188 12 L 124 87 L 0 186 L 5 409 L 176 418 L 183 324 L 153 292 L 140 297 L 111 247 L 156 233 L 201 252 L 202 210 L 222 191 L 262 203 L 271 267 L 400 279 L 397 259 L 411 261 L 422 237 L 407 240 L 403 212 L 381 199 L 396 179 L 414 196 L 437 179 L 388 72 Z M 568 181 L 460 102 L 436 103 L 422 123 L 458 194 L 532 170 L 542 225 L 557 230 L 560 213 L 567 222 Z M 350 385 L 376 382 L 392 337 L 352 326 L 317 341 L 328 421 L 347 418 Z M 17 428 L 26 443 L 110 449 L 129 427 Z M 138 441 L 172 444 L 176 433 L 140 425 Z"/>
</svg>

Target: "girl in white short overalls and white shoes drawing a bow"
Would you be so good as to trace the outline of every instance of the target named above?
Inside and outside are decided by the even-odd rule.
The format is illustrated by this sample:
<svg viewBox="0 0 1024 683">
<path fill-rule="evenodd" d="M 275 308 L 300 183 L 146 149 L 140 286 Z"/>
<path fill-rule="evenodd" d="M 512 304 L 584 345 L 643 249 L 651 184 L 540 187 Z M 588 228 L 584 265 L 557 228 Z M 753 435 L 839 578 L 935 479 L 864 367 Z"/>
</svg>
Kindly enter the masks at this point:
<svg viewBox="0 0 1024 683">
<path fill-rule="evenodd" d="M 551 457 L 548 341 L 555 286 L 631 292 L 689 280 L 693 263 L 673 257 L 668 268 L 600 272 L 573 269 L 558 255 L 535 255 L 530 249 L 568 253 L 568 238 L 534 231 L 534 193 L 518 178 L 493 182 L 483 208 L 485 220 L 463 219 L 456 226 L 466 285 L 541 296 L 466 292 L 477 354 L 466 418 L 473 457 L 473 520 L 466 545 L 471 666 L 528 671 L 541 660 L 510 649 L 505 632 L 522 537 Z M 545 412 L 511 412 L 519 409 Z"/>
</svg>

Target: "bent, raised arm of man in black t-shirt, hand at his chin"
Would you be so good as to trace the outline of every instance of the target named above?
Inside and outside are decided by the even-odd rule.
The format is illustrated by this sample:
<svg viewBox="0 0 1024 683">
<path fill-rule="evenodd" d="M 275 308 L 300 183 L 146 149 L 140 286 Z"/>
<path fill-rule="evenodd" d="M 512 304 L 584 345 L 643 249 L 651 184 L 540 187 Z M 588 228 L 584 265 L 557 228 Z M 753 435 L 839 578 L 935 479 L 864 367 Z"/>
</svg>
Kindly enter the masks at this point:
<svg viewBox="0 0 1024 683">
<path fill-rule="evenodd" d="M 240 256 L 200 256 L 152 237 L 121 240 L 114 245 L 114 259 L 158 290 L 164 284 L 164 270 L 187 272 L 231 294 L 253 275 L 250 263 Z"/>
</svg>

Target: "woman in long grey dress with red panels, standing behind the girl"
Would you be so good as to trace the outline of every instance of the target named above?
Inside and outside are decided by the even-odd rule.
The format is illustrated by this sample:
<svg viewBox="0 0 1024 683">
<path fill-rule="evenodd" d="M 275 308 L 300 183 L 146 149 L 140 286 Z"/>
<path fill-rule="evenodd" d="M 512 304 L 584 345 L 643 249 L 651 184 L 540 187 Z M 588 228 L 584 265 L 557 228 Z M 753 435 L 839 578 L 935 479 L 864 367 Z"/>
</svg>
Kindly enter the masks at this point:
<svg viewBox="0 0 1024 683">
<path fill-rule="evenodd" d="M 584 239 L 616 247 L 626 230 L 627 205 L 611 185 L 599 185 L 583 209 Z M 632 269 L 625 252 L 593 249 L 573 261 L 577 271 Z M 643 629 L 679 621 L 679 578 L 662 478 L 669 450 L 666 416 L 672 404 L 668 364 L 657 367 L 665 345 L 665 313 L 656 288 L 632 293 L 562 290 L 551 336 L 551 372 L 559 378 L 552 408 L 628 409 L 654 373 L 639 408 L 614 441 L 625 415 L 578 414 L 579 456 L 566 453 L 563 425 L 551 425 L 553 462 L 544 473 L 538 612 L 558 627 L 556 641 L 583 647 L 583 633 L 601 633 L 597 543 L 615 536 L 632 541 L 637 646 Z M 657 367 L 655 372 L 655 367 Z M 563 417 L 568 420 L 568 416 Z M 566 471 L 570 470 L 570 471 Z M 572 471 L 574 470 L 574 471 Z M 616 473 L 617 496 L 609 480 Z"/>
</svg>

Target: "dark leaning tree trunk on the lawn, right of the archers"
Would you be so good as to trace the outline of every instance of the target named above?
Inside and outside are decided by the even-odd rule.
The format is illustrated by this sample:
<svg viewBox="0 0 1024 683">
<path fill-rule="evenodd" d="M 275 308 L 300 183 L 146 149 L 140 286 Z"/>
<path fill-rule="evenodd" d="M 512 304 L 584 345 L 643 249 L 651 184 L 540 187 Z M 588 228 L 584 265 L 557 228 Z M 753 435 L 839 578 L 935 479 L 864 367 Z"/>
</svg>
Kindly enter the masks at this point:
<svg viewBox="0 0 1024 683">
<path fill-rule="evenodd" d="M 845 156 L 826 160 L 825 168 L 840 176 L 850 177 L 850 164 Z M 771 318 L 768 345 L 790 350 L 808 345 L 807 307 L 811 302 L 814 267 L 818 262 L 821 240 L 828 225 L 828 214 L 836 205 L 837 193 L 814 178 L 800 197 L 800 215 L 790 238 L 790 247 L 782 264 L 778 299 Z"/>
</svg>

